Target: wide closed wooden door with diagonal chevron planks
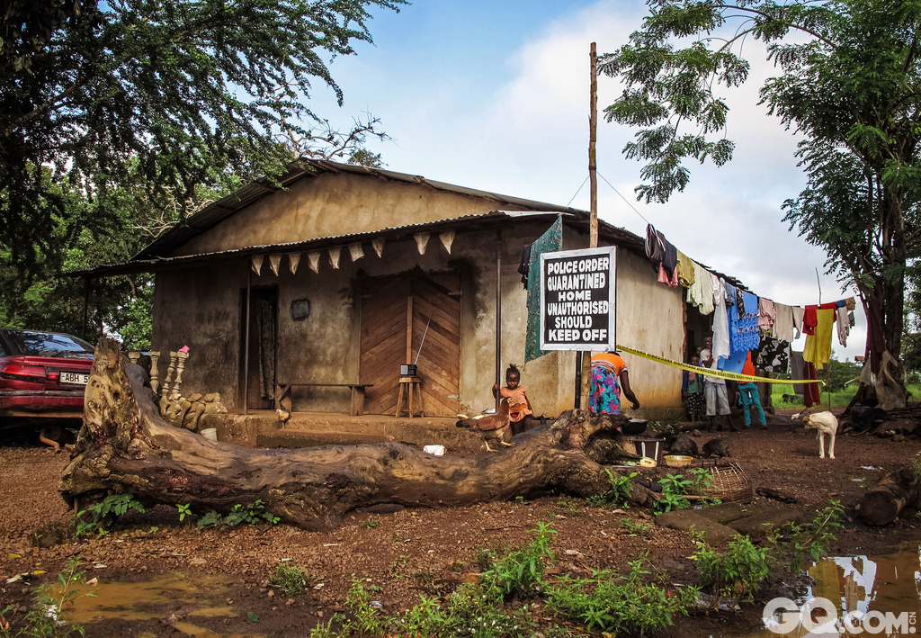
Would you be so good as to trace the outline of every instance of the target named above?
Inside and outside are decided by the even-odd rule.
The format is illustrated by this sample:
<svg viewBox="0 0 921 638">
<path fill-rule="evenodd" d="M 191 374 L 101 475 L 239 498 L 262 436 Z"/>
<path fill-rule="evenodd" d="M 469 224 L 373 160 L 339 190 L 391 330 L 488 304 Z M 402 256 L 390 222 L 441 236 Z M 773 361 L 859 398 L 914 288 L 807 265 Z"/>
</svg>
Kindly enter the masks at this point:
<svg viewBox="0 0 921 638">
<path fill-rule="evenodd" d="M 400 365 L 418 355 L 426 416 L 454 416 L 461 379 L 460 276 L 371 279 L 364 290 L 361 383 L 374 384 L 367 389 L 367 413 L 393 414 Z"/>
</svg>

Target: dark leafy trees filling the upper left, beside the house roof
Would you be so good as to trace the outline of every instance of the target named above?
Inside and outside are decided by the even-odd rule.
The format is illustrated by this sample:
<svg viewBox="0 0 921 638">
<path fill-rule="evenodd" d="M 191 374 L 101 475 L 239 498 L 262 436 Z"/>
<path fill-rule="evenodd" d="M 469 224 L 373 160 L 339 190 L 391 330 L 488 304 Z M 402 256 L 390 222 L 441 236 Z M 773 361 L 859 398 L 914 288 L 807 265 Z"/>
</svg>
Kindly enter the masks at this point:
<svg viewBox="0 0 921 638">
<path fill-rule="evenodd" d="M 65 266 L 126 259 L 298 155 L 379 161 L 361 150 L 376 121 L 334 130 L 311 83 L 341 104 L 329 60 L 371 41 L 368 11 L 402 4 L 0 0 L 0 325 L 75 330 Z M 98 285 L 94 325 L 118 328 L 138 286 Z"/>
</svg>

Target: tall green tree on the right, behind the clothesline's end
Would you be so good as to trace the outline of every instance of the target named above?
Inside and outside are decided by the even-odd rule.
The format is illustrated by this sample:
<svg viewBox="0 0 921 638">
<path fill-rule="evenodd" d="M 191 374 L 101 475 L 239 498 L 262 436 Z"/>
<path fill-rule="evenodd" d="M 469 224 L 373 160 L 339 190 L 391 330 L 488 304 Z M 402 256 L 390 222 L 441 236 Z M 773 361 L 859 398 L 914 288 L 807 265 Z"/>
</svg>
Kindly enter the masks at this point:
<svg viewBox="0 0 921 638">
<path fill-rule="evenodd" d="M 787 217 L 824 247 L 830 268 L 879 307 L 885 348 L 901 352 L 906 261 L 921 246 L 918 0 L 649 0 L 649 15 L 601 71 L 624 81 L 609 121 L 639 126 L 624 148 L 647 162 L 637 188 L 665 201 L 688 160 L 732 156 L 720 85 L 746 80 L 742 43 L 767 43 L 779 73 L 761 103 L 803 136 L 809 183 Z"/>
</svg>

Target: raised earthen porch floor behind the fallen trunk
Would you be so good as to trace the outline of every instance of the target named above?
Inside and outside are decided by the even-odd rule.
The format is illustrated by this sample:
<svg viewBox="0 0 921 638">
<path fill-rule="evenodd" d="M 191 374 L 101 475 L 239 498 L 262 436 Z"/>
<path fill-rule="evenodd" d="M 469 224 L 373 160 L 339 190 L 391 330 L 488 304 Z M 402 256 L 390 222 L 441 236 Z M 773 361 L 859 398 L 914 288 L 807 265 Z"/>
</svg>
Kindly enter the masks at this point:
<svg viewBox="0 0 921 638">
<path fill-rule="evenodd" d="M 449 452 L 471 453 L 482 438 L 455 427 L 457 419 L 445 417 L 393 417 L 365 414 L 351 417 L 335 412 L 292 412 L 285 428 L 274 410 L 250 410 L 247 415 L 210 414 L 199 429 L 216 428 L 218 441 L 247 447 L 310 447 L 356 445 L 396 441 L 417 446 L 441 444 Z"/>
</svg>

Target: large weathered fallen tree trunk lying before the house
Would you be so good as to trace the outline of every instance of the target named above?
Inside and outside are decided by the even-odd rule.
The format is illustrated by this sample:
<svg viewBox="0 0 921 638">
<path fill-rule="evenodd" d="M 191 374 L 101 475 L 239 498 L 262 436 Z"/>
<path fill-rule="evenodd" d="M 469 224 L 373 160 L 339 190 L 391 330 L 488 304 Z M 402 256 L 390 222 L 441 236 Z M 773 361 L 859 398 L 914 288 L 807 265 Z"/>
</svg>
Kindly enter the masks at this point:
<svg viewBox="0 0 921 638">
<path fill-rule="evenodd" d="M 586 496 L 609 488 L 610 479 L 583 449 L 625 420 L 570 410 L 517 436 L 512 448 L 472 457 L 426 455 L 401 443 L 252 450 L 169 425 L 145 380 L 118 342 L 99 342 L 84 425 L 58 486 L 69 505 L 130 492 L 142 502 L 190 503 L 204 514 L 262 500 L 283 521 L 321 530 L 380 503 L 459 505 L 550 489 Z"/>
</svg>

